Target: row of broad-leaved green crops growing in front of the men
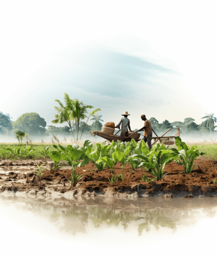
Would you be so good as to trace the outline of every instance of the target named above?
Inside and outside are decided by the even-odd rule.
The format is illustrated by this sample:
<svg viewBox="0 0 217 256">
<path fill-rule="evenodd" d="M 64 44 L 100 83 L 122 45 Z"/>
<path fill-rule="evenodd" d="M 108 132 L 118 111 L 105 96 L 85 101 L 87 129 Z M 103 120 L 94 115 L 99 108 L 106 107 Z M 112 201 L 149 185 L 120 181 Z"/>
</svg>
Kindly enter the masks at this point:
<svg viewBox="0 0 217 256">
<path fill-rule="evenodd" d="M 53 145 L 56 150 L 51 151 L 50 158 L 54 161 L 54 166 L 58 166 L 62 160 L 67 161 L 72 167 L 71 180 L 69 180 L 71 186 L 76 186 L 83 176 L 76 173 L 76 167 L 84 167 L 89 162 L 92 162 L 99 171 L 105 167 L 110 168 L 112 176 L 109 181 L 111 183 L 116 182 L 118 178 L 124 179 L 126 163 L 131 164 L 132 169 L 142 167 L 153 176 L 152 180 L 160 180 L 167 176 L 163 173 L 166 164 L 176 161 L 184 166 L 185 173 L 192 173 L 196 157 L 205 154 L 200 152 L 196 145 L 187 146 L 180 137 L 176 137 L 175 142 L 177 149 L 170 149 L 169 146 L 165 147 L 159 143 L 151 151 L 144 141 L 138 145 L 134 139 L 127 143 L 112 142 L 111 145 L 97 143 L 97 149 L 90 141 L 85 141 L 82 146 L 74 144 L 64 147 L 59 144 Z M 117 163 L 121 163 L 123 170 L 123 173 L 119 175 L 116 174 Z M 142 176 L 142 180 L 149 181 L 145 175 Z"/>
</svg>

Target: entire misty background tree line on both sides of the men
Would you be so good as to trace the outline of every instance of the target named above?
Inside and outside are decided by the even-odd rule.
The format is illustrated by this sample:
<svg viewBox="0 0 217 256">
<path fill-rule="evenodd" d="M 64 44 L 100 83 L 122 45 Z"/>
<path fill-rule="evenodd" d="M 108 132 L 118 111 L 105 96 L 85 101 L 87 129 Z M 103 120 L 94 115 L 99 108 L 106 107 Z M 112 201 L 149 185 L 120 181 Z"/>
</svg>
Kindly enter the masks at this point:
<svg viewBox="0 0 217 256">
<path fill-rule="evenodd" d="M 55 125 L 48 125 L 44 118 L 40 117 L 37 113 L 25 113 L 22 114 L 16 121 L 12 121 L 10 114 L 3 114 L 0 112 L 0 135 L 15 135 L 17 131 L 22 131 L 30 136 L 44 136 L 44 135 L 72 135 L 74 140 L 81 138 L 83 135 L 90 135 L 90 131 L 100 131 L 103 124 L 100 121 L 102 115 L 98 112 L 100 108 L 92 110 L 93 106 L 85 105 L 84 102 L 78 99 L 70 99 L 68 94 L 65 93 L 65 105 L 59 101 L 59 106 L 54 107 L 56 110 L 55 119 L 52 121 L 53 124 L 67 125 L 62 127 L 56 127 Z M 91 112 L 89 113 L 88 111 Z M 84 119 L 87 119 L 85 122 Z M 93 124 L 88 125 L 88 120 L 93 120 Z M 195 119 L 185 118 L 184 121 L 169 122 L 164 120 L 162 123 L 151 117 L 149 119 L 152 129 L 155 132 L 163 132 L 171 128 L 171 133 L 176 130 L 176 127 L 180 127 L 181 133 L 212 133 L 216 132 L 215 123 L 216 118 L 214 114 L 206 114 L 201 119 L 205 119 L 201 124 L 196 124 Z M 47 129 L 46 129 L 47 126 Z M 137 129 L 135 129 L 136 131 Z"/>
</svg>

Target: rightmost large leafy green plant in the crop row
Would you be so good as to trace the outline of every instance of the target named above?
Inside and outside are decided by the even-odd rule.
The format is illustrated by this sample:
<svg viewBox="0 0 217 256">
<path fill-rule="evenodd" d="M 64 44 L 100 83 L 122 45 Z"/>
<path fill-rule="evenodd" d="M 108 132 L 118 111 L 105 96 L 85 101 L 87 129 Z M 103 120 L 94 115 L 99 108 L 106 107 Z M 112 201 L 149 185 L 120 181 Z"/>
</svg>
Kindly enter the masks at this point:
<svg viewBox="0 0 217 256">
<path fill-rule="evenodd" d="M 179 152 L 179 159 L 176 160 L 178 164 L 181 164 L 185 168 L 185 173 L 192 173 L 194 167 L 198 164 L 194 164 L 194 160 L 205 153 L 200 152 L 197 149 L 197 146 L 188 147 L 186 143 L 182 142 L 180 137 L 175 137 L 175 142 L 177 146 L 177 150 Z"/>
</svg>

